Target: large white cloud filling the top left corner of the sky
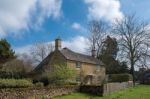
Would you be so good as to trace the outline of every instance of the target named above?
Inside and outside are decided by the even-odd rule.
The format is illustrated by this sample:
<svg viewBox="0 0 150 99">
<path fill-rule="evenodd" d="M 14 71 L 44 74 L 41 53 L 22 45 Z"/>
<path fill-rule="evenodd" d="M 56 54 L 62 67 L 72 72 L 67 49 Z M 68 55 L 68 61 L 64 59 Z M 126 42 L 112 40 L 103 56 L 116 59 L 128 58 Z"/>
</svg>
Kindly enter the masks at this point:
<svg viewBox="0 0 150 99">
<path fill-rule="evenodd" d="M 28 29 L 33 25 L 32 19 L 42 24 L 45 17 L 59 17 L 61 3 L 62 0 L 0 0 L 0 38 Z"/>
</svg>

